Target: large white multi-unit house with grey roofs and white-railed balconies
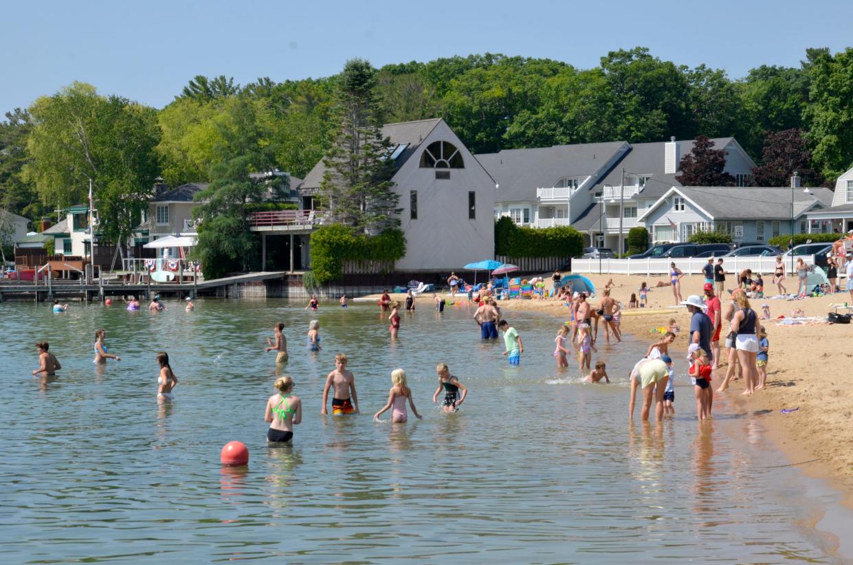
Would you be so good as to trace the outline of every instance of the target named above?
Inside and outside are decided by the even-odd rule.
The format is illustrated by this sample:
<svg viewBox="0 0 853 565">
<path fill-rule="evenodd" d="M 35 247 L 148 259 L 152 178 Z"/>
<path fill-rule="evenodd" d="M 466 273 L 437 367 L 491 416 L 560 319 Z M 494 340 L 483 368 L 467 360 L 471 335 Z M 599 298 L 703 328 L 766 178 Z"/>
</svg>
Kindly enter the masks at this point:
<svg viewBox="0 0 853 565">
<path fill-rule="evenodd" d="M 711 139 L 725 149 L 725 171 L 746 185 L 755 163 L 734 137 Z M 637 218 L 673 186 L 693 140 L 656 143 L 583 143 L 512 149 L 478 155 L 500 185 L 496 217 L 519 225 L 572 225 L 586 245 L 623 251 Z M 621 219 L 620 219 L 621 218 Z"/>
</svg>

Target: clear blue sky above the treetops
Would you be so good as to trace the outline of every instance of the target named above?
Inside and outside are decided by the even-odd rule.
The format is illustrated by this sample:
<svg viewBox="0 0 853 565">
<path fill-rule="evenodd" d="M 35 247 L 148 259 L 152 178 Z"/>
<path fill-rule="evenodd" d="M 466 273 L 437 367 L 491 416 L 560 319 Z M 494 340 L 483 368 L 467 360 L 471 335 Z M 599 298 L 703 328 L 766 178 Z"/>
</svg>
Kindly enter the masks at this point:
<svg viewBox="0 0 853 565">
<path fill-rule="evenodd" d="M 853 45 L 850 0 L 84 0 L 3 3 L 0 19 L 0 113 L 74 80 L 162 108 L 196 74 L 322 77 L 353 56 L 380 67 L 490 51 L 587 68 L 641 45 L 740 78 Z"/>
</svg>

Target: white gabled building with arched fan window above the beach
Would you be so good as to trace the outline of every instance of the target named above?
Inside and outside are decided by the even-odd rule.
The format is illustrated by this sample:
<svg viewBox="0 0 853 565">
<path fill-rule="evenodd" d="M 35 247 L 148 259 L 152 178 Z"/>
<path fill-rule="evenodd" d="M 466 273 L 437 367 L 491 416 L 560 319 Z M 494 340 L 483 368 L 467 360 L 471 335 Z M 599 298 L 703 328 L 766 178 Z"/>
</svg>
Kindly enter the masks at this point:
<svg viewBox="0 0 853 565">
<path fill-rule="evenodd" d="M 392 143 L 392 190 L 400 197 L 406 237 L 397 271 L 459 269 L 493 257 L 495 179 L 444 119 L 386 124 L 382 136 Z M 323 172 L 320 161 L 305 177 L 305 201 L 320 189 Z"/>
</svg>

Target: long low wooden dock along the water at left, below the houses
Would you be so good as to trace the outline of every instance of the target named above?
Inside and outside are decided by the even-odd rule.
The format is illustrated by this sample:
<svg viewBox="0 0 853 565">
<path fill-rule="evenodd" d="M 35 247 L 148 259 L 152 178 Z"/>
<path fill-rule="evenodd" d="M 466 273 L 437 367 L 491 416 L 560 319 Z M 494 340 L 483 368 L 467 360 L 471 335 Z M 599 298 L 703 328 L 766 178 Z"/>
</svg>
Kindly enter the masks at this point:
<svg viewBox="0 0 853 565">
<path fill-rule="evenodd" d="M 104 281 L 102 283 L 86 284 L 84 281 L 52 280 L 47 286 L 44 281 L 37 284 L 32 281 L 2 281 L 0 280 L 0 301 L 3 300 L 106 300 L 111 296 L 136 296 L 151 298 L 160 294 L 164 296 L 197 296 L 199 294 L 217 294 L 224 290 L 227 298 L 228 289 L 247 283 L 281 279 L 289 274 L 287 271 L 259 271 L 236 275 L 235 277 L 216 278 L 209 281 L 185 283 L 121 283 Z"/>
</svg>

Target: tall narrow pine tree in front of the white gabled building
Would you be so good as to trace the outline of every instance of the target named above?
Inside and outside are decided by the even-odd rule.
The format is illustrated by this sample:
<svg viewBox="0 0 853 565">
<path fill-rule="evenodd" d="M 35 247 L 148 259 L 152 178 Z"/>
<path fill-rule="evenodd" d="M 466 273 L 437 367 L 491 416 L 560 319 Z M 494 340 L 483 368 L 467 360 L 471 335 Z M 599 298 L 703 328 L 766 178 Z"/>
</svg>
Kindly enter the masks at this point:
<svg viewBox="0 0 853 565">
<path fill-rule="evenodd" d="M 331 219 L 365 233 L 396 227 L 399 196 L 392 191 L 394 163 L 391 143 L 382 138 L 374 67 L 363 59 L 346 61 L 337 97 L 340 128 L 323 158 L 320 186 Z"/>
</svg>

